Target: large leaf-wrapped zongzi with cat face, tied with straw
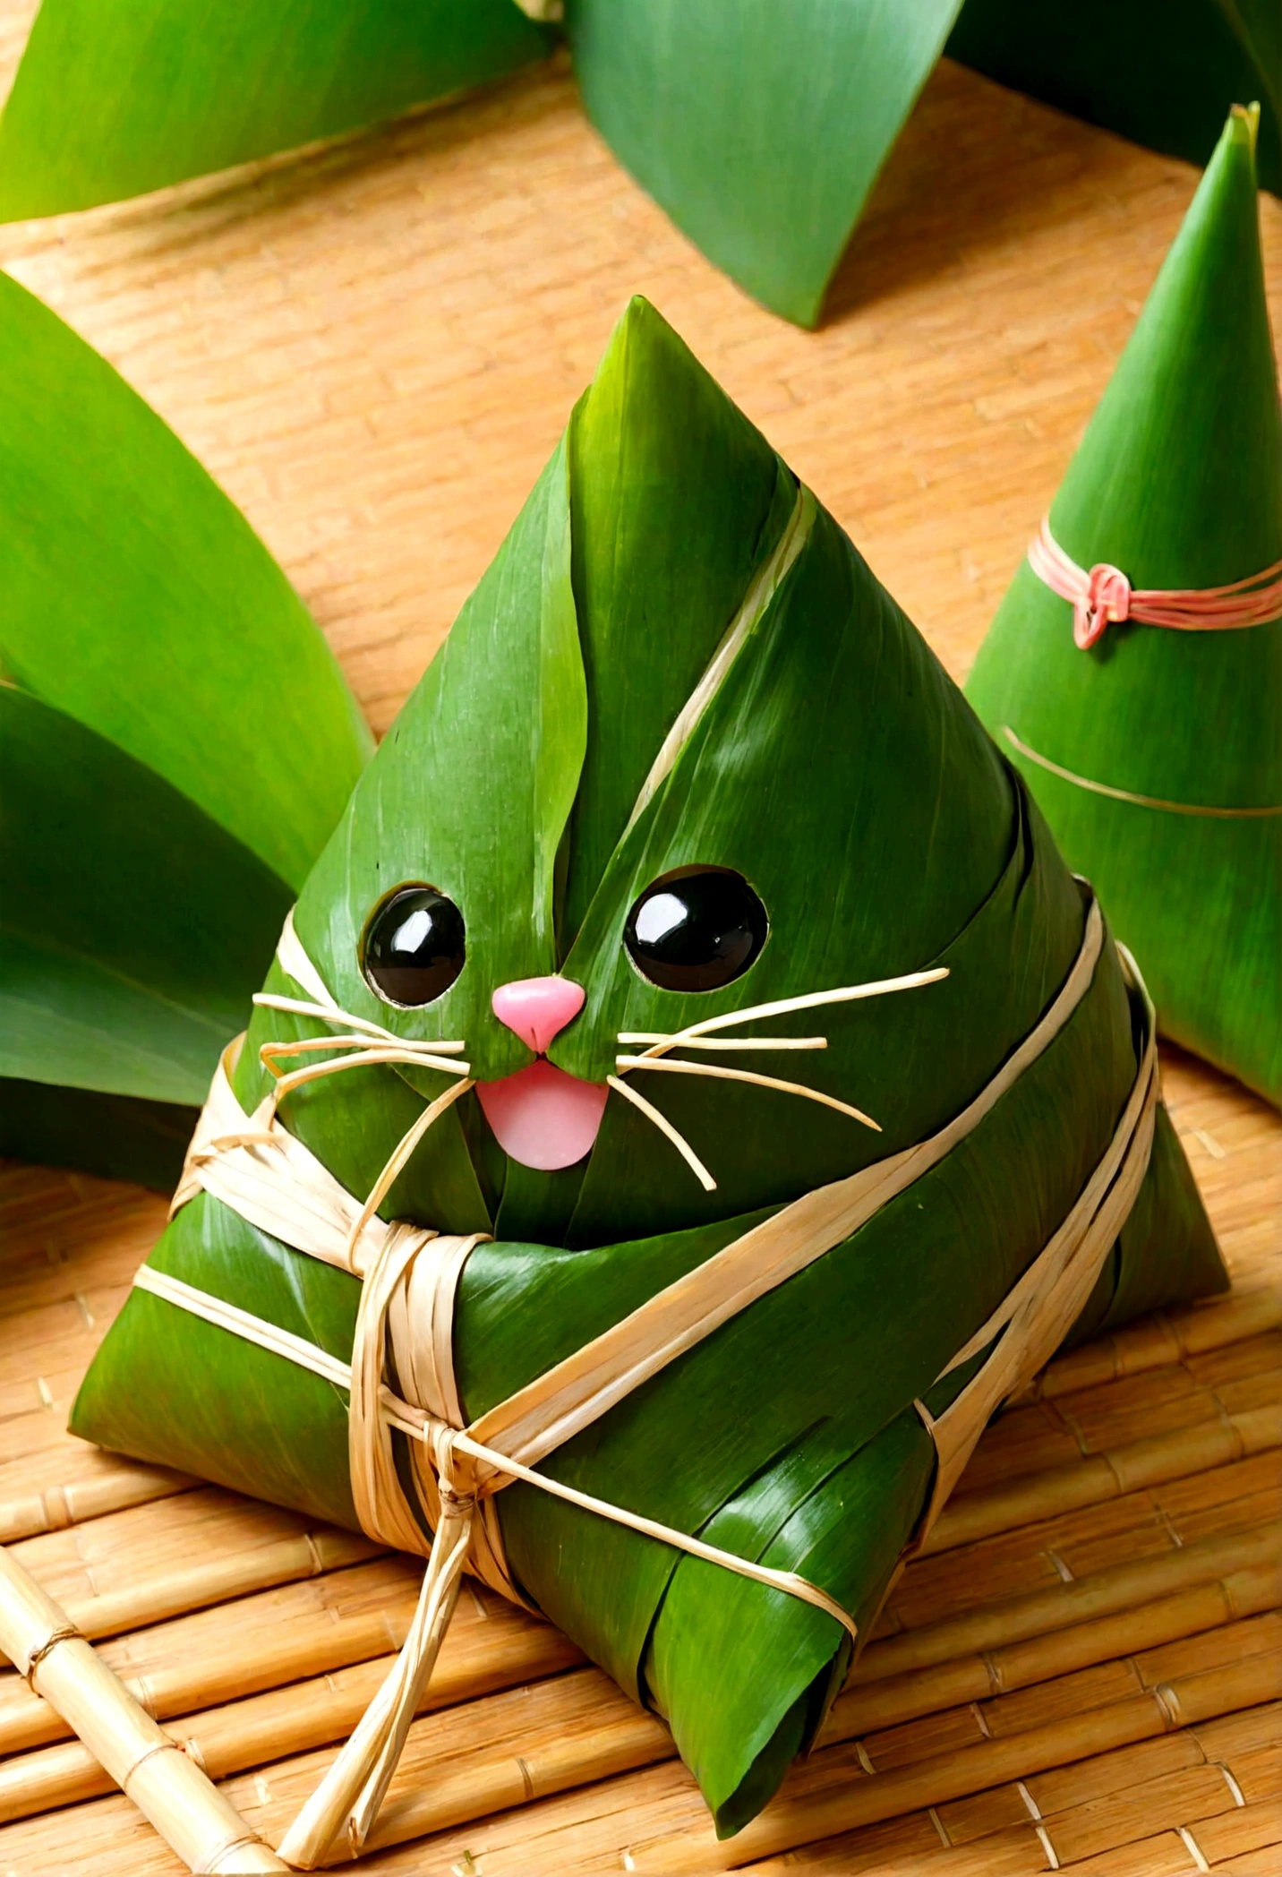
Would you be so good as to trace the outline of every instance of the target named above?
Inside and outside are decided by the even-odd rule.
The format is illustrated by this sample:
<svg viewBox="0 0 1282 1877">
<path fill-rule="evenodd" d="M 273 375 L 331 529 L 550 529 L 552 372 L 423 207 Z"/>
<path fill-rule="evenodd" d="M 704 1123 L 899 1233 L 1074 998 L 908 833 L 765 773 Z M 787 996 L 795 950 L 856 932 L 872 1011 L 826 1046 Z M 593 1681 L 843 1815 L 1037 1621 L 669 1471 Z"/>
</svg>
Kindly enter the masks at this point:
<svg viewBox="0 0 1282 1877">
<path fill-rule="evenodd" d="M 291 1862 L 362 1843 L 464 1562 L 732 1834 L 1000 1402 L 1224 1284 L 1094 897 L 636 300 L 302 888 L 73 1427 L 430 1554 Z"/>
</svg>

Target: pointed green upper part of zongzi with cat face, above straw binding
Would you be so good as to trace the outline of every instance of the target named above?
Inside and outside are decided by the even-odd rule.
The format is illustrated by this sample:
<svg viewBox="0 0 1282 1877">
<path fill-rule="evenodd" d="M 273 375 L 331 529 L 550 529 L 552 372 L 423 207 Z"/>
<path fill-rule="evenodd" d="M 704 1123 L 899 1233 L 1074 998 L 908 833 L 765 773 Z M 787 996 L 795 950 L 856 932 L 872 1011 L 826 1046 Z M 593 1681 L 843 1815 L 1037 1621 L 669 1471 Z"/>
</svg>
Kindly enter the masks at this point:
<svg viewBox="0 0 1282 1877">
<path fill-rule="evenodd" d="M 597 1243 L 794 1198 L 937 1124 L 955 1091 L 937 1115 L 907 1070 L 955 985 L 732 1019 L 931 967 L 1012 828 L 922 640 L 646 308 L 297 929 L 345 1010 L 462 1045 L 492 1188 L 539 1213 L 542 1181 L 556 1235 Z"/>
</svg>

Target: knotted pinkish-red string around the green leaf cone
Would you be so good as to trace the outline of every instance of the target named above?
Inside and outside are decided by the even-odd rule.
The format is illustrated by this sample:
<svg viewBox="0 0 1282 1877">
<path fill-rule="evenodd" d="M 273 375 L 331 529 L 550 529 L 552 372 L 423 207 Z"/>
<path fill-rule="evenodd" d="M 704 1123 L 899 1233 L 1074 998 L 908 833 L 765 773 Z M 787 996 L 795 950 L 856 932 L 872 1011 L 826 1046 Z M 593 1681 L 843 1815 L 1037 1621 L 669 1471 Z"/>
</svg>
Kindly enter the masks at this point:
<svg viewBox="0 0 1282 1877">
<path fill-rule="evenodd" d="M 1132 588 L 1121 567 L 1098 561 L 1091 572 L 1077 567 L 1051 533 L 1049 518 L 1029 548 L 1029 567 L 1051 593 L 1074 608 L 1074 644 L 1087 651 L 1106 625 L 1137 619 L 1169 625 L 1177 633 L 1222 633 L 1243 625 L 1267 625 L 1282 616 L 1282 561 L 1246 580 L 1222 588 Z"/>
</svg>

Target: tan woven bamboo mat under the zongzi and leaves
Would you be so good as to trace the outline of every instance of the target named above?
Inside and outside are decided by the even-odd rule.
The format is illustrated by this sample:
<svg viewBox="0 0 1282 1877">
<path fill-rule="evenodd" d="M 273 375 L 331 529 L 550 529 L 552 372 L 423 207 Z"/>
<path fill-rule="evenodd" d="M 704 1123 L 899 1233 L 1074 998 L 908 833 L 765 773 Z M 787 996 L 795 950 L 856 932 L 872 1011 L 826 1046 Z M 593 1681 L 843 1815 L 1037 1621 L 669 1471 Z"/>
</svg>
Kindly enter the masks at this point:
<svg viewBox="0 0 1282 1877">
<path fill-rule="evenodd" d="M 30 0 L 0 4 L 0 68 Z M 0 83 L 4 83 L 0 71 Z M 961 676 L 1194 188 L 942 66 L 800 334 L 676 235 L 563 71 L 143 205 L 0 229 L 246 509 L 377 728 L 648 293 Z M 1265 203 L 1282 328 L 1282 208 Z M 721 1853 L 663 1727 L 469 1594 L 364 1868 L 755 1877 L 1282 1871 L 1282 1122 L 1168 1055 L 1235 1289 L 984 1438 L 820 1747 Z M 268 1838 L 404 1635 L 415 1565 L 66 1434 L 163 1222 L 0 1169 L 0 1539 Z M 0 1672 L 0 1873 L 171 1873 Z"/>
</svg>

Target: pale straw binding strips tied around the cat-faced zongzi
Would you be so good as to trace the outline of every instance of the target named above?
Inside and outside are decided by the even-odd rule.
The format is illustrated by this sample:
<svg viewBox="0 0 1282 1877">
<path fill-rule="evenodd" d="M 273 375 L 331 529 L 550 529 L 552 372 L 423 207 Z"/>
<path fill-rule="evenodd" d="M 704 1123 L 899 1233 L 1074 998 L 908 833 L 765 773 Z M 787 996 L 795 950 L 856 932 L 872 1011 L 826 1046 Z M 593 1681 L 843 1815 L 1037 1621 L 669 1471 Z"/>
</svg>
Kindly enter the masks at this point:
<svg viewBox="0 0 1282 1877">
<path fill-rule="evenodd" d="M 289 938 L 297 946 L 293 927 Z M 1094 976 L 1102 946 L 1104 923 L 1092 899 L 1081 948 L 1059 995 L 987 1087 L 946 1128 L 783 1207 L 469 1427 L 462 1427 L 452 1372 L 452 1318 L 458 1278 L 477 1237 L 435 1237 L 404 1222 L 389 1226 L 370 1203 L 360 1205 L 345 1192 L 280 1126 L 274 1111 L 267 1113 L 268 1104 L 255 1117 L 244 1115 L 227 1068 L 220 1066 L 180 1194 L 190 1198 L 203 1186 L 297 1250 L 364 1276 L 351 1366 L 325 1351 L 304 1357 L 300 1338 L 148 1267 L 139 1273 L 139 1288 L 276 1355 L 304 1359 L 317 1374 L 347 1385 L 353 1500 L 360 1524 L 381 1543 L 422 1552 L 428 1549 L 422 1526 L 405 1500 L 392 1453 L 392 1430 L 407 1434 L 413 1442 L 415 1492 L 435 1534 L 405 1646 L 357 1732 L 291 1826 L 282 1856 L 312 1869 L 332 1856 L 342 1838 L 353 1854 L 364 1843 L 432 1672 L 464 1567 L 471 1565 L 486 1582 L 520 1601 L 494 1517 L 494 1494 L 512 1479 L 800 1597 L 826 1610 L 854 1637 L 848 1612 L 805 1579 L 771 1571 L 627 1507 L 574 1492 L 535 1468 L 721 1323 L 850 1239 L 937 1166 L 1059 1034 Z M 293 969 L 300 961 L 285 954 L 282 963 L 285 957 L 295 982 L 315 993 L 317 985 L 308 985 Z M 1126 967 L 1137 984 L 1128 961 Z M 312 972 L 310 963 L 306 970 Z M 328 993 L 315 997 L 315 1006 L 325 1021 L 355 1030 Z M 743 1014 L 730 1021 L 743 1021 Z M 944 1374 L 997 1338 L 989 1357 L 946 1413 L 931 1419 L 922 1408 L 939 1468 L 920 1535 L 929 1530 L 993 1408 L 1025 1385 L 1070 1327 L 1130 1211 L 1152 1141 L 1158 1092 L 1152 1029 L 1149 1010 L 1145 1057 L 1132 1096 L 1081 1198 Z M 636 1098 L 634 1091 L 627 1092 Z M 387 1186 L 387 1177 L 379 1186 Z M 385 1374 L 396 1376 L 400 1393 L 389 1389 Z"/>
</svg>

